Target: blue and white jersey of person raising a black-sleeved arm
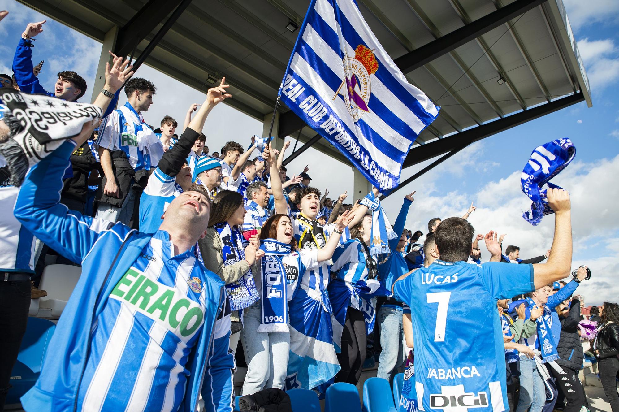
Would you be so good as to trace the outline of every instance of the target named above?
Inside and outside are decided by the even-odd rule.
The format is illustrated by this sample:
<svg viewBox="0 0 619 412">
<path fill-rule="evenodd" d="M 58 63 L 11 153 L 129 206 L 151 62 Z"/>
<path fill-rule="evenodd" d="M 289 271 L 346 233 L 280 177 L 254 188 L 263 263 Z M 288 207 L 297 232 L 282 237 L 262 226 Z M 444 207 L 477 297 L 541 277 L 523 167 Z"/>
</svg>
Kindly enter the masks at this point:
<svg viewBox="0 0 619 412">
<path fill-rule="evenodd" d="M 159 230 L 163 212 L 181 193 L 183 189 L 176 184 L 176 176 L 168 176 L 160 168 L 155 169 L 140 197 L 140 231 L 155 233 Z"/>
</svg>

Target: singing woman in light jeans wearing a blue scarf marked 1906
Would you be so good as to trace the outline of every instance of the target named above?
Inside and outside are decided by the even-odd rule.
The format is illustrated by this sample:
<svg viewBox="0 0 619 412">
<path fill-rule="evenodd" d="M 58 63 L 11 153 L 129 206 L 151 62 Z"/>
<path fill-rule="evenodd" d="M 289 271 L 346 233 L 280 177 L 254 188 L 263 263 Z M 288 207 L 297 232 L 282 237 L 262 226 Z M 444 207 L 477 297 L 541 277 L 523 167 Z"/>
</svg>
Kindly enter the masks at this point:
<svg viewBox="0 0 619 412">
<path fill-rule="evenodd" d="M 245 309 L 242 337 L 248 367 L 241 395 L 264 388 L 284 389 L 290 353 L 288 301 L 306 271 L 331 259 L 350 220 L 348 215 L 335 222 L 334 233 L 322 249 L 297 249 L 287 215 L 274 215 L 262 226 L 260 249 L 264 256 L 261 275 L 256 277 L 261 300 Z"/>
</svg>

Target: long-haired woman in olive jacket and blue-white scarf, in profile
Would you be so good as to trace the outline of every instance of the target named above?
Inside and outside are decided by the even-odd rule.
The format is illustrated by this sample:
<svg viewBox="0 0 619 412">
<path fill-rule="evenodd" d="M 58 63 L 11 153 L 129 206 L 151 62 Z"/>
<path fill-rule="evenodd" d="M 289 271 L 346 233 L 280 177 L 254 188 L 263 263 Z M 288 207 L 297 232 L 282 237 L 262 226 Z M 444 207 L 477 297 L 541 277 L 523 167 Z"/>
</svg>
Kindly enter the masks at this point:
<svg viewBox="0 0 619 412">
<path fill-rule="evenodd" d="M 206 236 L 198 242 L 204 266 L 226 283 L 232 311 L 232 351 L 236 351 L 239 332 L 243 328 L 243 309 L 259 299 L 253 276 L 258 268 L 254 263 L 264 254 L 259 251 L 258 236 L 252 236 L 244 248 L 241 225 L 245 213 L 245 202 L 240 193 L 219 192 L 212 205 Z"/>
</svg>

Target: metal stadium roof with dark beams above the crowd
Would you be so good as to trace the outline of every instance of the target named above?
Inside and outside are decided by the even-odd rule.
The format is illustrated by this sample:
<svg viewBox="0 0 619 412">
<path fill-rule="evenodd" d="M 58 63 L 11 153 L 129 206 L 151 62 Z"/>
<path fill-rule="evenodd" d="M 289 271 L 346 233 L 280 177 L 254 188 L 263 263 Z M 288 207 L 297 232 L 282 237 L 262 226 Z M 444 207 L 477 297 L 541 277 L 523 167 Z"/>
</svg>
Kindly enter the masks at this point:
<svg viewBox="0 0 619 412">
<path fill-rule="evenodd" d="M 272 114 L 295 27 L 309 5 L 309 0 L 19 1 L 97 40 L 113 36 L 115 53 L 142 54 L 139 61 L 197 89 L 206 91 L 225 74 L 235 96 L 226 103 L 260 120 Z M 404 166 L 443 153 L 448 158 L 476 140 L 579 101 L 591 106 L 561 0 L 357 3 L 409 82 L 442 107 Z M 279 111 L 280 138 L 296 137 L 303 127 L 305 147 L 314 144 L 347 161 L 288 108 Z"/>
</svg>

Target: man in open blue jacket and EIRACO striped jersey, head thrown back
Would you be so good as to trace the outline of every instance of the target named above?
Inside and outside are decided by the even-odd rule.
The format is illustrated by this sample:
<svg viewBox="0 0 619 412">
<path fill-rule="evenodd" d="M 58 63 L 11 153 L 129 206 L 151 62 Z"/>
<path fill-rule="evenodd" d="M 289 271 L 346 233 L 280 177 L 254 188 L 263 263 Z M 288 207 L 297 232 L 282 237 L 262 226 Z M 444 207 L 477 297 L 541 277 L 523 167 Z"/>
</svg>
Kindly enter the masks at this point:
<svg viewBox="0 0 619 412">
<path fill-rule="evenodd" d="M 128 60 L 106 71 L 108 92 L 131 75 Z M 217 101 L 230 97 L 217 87 Z M 110 99 L 99 95 L 105 108 Z M 85 127 L 86 129 L 86 127 Z M 170 202 L 154 234 L 69 211 L 61 178 L 74 147 L 64 142 L 25 178 L 15 217 L 54 250 L 82 264 L 51 341 L 53 356 L 24 397 L 27 411 L 232 411 L 229 315 L 223 282 L 194 255 L 209 200 L 187 191 Z"/>
</svg>

